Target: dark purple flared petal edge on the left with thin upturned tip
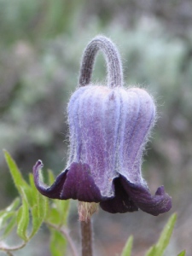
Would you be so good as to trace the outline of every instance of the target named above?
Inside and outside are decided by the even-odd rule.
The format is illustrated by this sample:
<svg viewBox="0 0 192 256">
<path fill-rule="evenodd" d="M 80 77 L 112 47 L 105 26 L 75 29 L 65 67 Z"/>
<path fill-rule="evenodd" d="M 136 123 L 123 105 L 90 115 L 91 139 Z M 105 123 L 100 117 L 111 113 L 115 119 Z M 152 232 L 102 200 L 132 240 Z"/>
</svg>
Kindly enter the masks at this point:
<svg viewBox="0 0 192 256">
<path fill-rule="evenodd" d="M 104 200 L 100 190 L 90 175 L 90 166 L 82 163 L 72 163 L 65 171 L 56 177 L 55 183 L 46 187 L 39 180 L 39 170 L 43 167 L 42 161 L 38 160 L 33 167 L 34 182 L 38 191 L 49 198 L 77 199 L 79 201 L 100 202 Z"/>
</svg>

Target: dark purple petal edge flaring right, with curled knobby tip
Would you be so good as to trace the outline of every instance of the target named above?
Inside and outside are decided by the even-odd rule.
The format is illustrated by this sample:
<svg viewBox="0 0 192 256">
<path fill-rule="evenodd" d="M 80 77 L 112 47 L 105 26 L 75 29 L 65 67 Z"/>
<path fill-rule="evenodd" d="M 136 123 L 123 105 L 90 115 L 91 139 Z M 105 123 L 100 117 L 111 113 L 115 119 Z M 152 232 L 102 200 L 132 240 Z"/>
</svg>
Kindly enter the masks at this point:
<svg viewBox="0 0 192 256">
<path fill-rule="evenodd" d="M 157 189 L 155 195 L 151 195 L 145 185 L 130 183 L 125 177 L 120 177 L 120 180 L 131 201 L 143 212 L 157 216 L 172 208 L 172 198 L 166 194 L 163 186 Z"/>
</svg>

